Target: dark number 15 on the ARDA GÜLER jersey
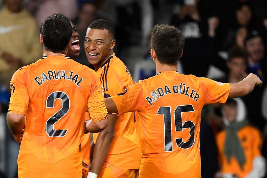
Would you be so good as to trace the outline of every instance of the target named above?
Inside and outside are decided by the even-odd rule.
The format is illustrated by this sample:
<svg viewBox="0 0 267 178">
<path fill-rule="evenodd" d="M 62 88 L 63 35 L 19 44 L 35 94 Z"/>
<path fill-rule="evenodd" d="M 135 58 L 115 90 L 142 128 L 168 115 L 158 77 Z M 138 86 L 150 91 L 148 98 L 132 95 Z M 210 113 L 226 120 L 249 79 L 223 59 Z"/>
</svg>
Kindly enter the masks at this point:
<svg viewBox="0 0 267 178">
<path fill-rule="evenodd" d="M 194 132 L 195 132 L 195 124 L 192 121 L 186 121 L 184 124 L 182 123 L 182 113 L 183 112 L 194 112 L 193 105 L 181 105 L 177 106 L 174 111 L 174 123 L 175 123 L 175 131 L 183 131 L 184 128 L 190 128 L 190 139 L 187 142 L 183 142 L 183 138 L 176 138 L 176 145 L 182 149 L 190 148 L 194 142 Z M 164 119 L 164 143 L 165 143 L 165 151 L 172 151 L 172 126 L 171 126 L 171 107 L 159 107 L 158 113 L 163 114 Z"/>
</svg>

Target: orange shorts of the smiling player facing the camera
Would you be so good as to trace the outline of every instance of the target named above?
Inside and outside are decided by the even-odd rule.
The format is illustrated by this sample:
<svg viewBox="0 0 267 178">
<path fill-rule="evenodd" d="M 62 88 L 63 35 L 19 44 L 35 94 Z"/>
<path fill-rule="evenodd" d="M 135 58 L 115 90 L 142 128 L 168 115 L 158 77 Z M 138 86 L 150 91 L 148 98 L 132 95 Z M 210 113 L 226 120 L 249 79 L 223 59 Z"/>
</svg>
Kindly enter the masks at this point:
<svg viewBox="0 0 267 178">
<path fill-rule="evenodd" d="M 110 165 L 102 168 L 97 178 L 137 178 L 138 172 L 138 169 L 120 170 L 115 166 Z"/>
</svg>

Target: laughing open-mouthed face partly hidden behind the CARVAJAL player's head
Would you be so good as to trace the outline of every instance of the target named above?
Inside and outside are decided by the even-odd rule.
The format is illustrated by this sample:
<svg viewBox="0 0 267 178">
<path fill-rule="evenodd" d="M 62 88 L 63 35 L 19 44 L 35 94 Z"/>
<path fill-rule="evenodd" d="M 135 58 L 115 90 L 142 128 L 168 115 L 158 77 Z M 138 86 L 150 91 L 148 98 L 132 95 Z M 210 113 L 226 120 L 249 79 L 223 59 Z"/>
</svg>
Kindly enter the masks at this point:
<svg viewBox="0 0 267 178">
<path fill-rule="evenodd" d="M 76 30 L 76 27 L 71 22 L 72 36 L 71 36 L 71 47 L 68 50 L 68 55 L 75 59 L 80 55 L 80 35 Z"/>
</svg>

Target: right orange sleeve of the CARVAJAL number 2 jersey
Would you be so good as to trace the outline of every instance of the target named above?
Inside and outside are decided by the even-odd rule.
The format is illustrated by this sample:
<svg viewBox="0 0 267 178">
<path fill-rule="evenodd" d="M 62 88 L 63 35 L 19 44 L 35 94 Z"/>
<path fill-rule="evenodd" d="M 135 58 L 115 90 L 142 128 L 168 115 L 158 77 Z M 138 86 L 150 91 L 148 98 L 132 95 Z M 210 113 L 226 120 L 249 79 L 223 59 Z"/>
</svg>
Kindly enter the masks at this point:
<svg viewBox="0 0 267 178">
<path fill-rule="evenodd" d="M 100 81 L 97 80 L 94 72 L 92 72 L 92 85 L 87 102 L 87 109 L 93 122 L 107 118 L 107 108 L 103 97 L 103 90 L 100 88 Z"/>
</svg>

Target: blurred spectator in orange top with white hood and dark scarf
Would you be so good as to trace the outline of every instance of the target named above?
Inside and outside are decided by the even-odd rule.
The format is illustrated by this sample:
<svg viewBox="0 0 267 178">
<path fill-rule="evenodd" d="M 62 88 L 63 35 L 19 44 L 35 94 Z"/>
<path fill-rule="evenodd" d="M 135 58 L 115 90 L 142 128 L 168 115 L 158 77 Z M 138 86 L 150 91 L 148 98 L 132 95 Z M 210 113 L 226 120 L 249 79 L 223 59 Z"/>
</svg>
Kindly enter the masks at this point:
<svg viewBox="0 0 267 178">
<path fill-rule="evenodd" d="M 241 98 L 228 99 L 222 106 L 225 130 L 216 136 L 221 164 L 217 178 L 261 178 L 265 175 L 266 163 L 260 153 L 261 134 L 248 125 L 246 113 Z"/>
</svg>

